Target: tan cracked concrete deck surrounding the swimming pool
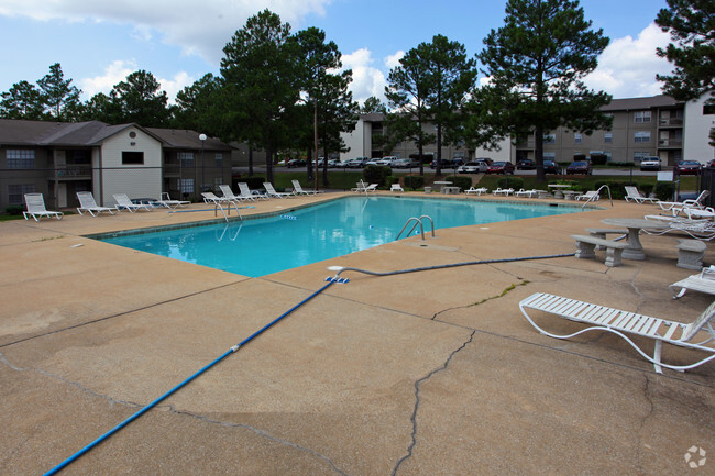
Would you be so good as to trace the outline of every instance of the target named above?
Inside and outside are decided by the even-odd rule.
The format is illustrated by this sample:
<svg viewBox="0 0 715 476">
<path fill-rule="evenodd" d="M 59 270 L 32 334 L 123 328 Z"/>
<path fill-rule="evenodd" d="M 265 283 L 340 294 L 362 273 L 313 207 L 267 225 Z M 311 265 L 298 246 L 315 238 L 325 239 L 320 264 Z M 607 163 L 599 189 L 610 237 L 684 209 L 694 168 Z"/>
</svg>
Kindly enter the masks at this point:
<svg viewBox="0 0 715 476">
<path fill-rule="evenodd" d="M 256 202 L 244 214 L 341 195 Z M 597 204 L 438 230 L 262 278 L 84 237 L 213 220 L 213 211 L 0 223 L 0 474 L 52 469 L 320 289 L 329 265 L 387 272 L 572 253 L 569 235 L 604 218 L 659 211 Z M 678 237 L 644 235 L 647 259 L 616 268 L 598 252 L 389 277 L 346 272 L 349 284 L 333 284 L 61 474 L 712 474 L 715 363 L 658 375 L 618 337 L 553 340 L 518 308 L 548 291 L 692 321 L 712 296 L 671 298 L 668 285 L 694 273 L 675 266 Z M 705 262 L 715 264 L 710 243 Z M 703 354 L 667 347 L 663 356 L 685 364 Z M 692 446 L 707 452 L 705 466 L 688 465 Z"/>
</svg>

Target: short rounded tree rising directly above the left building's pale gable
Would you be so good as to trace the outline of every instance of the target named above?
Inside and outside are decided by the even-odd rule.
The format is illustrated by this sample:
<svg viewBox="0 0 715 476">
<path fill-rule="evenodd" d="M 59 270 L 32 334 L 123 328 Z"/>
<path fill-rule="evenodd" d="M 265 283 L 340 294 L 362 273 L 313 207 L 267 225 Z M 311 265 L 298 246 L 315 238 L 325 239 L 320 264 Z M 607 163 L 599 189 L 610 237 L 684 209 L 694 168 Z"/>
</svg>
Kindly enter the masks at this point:
<svg viewBox="0 0 715 476">
<path fill-rule="evenodd" d="M 114 123 L 135 122 L 145 128 L 163 128 L 168 123 L 168 96 L 160 90 L 161 85 L 145 70 L 127 76 L 116 85 L 110 98 L 113 109 L 119 111 Z"/>
</svg>

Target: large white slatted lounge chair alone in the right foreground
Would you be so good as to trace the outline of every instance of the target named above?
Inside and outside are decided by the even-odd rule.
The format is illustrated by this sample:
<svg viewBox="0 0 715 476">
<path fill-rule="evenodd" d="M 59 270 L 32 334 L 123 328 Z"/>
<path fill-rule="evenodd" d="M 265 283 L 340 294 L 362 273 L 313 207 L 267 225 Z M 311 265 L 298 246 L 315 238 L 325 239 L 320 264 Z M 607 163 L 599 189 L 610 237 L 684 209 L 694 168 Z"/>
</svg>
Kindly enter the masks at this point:
<svg viewBox="0 0 715 476">
<path fill-rule="evenodd" d="M 536 292 L 524 299 L 519 302 L 519 309 L 531 325 L 534 325 L 540 333 L 550 337 L 571 339 L 588 331 L 605 331 L 614 333 L 619 337 L 623 337 L 640 355 L 651 362 L 656 367 L 656 372 L 659 374 L 662 374 L 661 367 L 682 372 L 697 367 L 698 365 L 705 364 L 715 358 L 715 347 L 712 345 L 705 345 L 715 340 L 715 331 L 711 324 L 713 317 L 715 317 L 715 302 L 710 305 L 697 319 L 689 324 L 651 318 L 629 311 L 622 311 L 605 306 L 592 305 L 575 299 L 548 295 L 546 292 Z M 526 309 L 548 312 L 559 316 L 560 318 L 587 324 L 588 326 L 569 335 L 551 334 L 538 326 L 526 312 Z M 691 343 L 690 341 L 698 334 L 701 330 L 708 334 L 707 339 L 698 343 Z M 638 335 L 640 337 L 656 341 L 653 356 L 650 357 L 640 350 L 640 347 L 631 341 L 627 334 Z M 663 364 L 660 358 L 663 342 L 681 347 L 707 352 L 712 355 L 692 365 Z"/>
</svg>

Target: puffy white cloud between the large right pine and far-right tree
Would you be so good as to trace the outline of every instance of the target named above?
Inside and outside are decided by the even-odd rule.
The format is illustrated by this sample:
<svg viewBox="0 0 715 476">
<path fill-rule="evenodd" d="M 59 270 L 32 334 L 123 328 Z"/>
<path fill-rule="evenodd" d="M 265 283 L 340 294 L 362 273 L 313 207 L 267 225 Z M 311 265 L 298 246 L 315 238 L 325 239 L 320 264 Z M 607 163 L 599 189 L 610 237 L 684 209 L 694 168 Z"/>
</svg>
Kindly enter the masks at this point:
<svg viewBox="0 0 715 476">
<path fill-rule="evenodd" d="M 670 35 L 654 23 L 647 26 L 637 38 L 625 36 L 610 42 L 598 57 L 598 67 L 585 78 L 585 84 L 606 91 L 615 99 L 661 95 L 661 84 L 656 74 L 669 74 L 672 65 L 656 55 L 664 47 Z"/>
</svg>

